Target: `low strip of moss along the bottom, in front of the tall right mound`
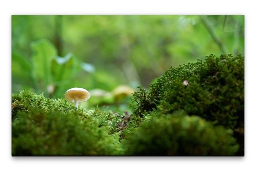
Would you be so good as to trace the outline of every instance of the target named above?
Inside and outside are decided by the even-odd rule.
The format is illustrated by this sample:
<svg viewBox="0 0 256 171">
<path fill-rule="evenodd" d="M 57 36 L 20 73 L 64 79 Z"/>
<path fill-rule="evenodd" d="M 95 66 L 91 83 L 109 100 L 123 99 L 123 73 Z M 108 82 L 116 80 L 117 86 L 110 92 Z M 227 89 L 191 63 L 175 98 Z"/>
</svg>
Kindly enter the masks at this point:
<svg viewBox="0 0 256 171">
<path fill-rule="evenodd" d="M 239 147 L 233 130 L 185 110 L 141 115 L 76 111 L 65 99 L 23 90 L 12 94 L 12 155 L 234 155 Z"/>
</svg>

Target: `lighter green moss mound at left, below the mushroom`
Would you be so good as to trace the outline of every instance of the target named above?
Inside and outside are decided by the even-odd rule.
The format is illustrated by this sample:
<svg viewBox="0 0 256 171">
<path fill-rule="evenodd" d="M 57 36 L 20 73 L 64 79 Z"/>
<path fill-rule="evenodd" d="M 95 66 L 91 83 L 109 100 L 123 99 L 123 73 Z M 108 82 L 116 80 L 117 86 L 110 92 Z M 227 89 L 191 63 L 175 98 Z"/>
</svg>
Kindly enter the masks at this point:
<svg viewBox="0 0 256 171">
<path fill-rule="evenodd" d="M 75 111 L 65 99 L 29 90 L 12 95 L 12 117 L 13 156 L 123 154 L 111 111 Z"/>
</svg>

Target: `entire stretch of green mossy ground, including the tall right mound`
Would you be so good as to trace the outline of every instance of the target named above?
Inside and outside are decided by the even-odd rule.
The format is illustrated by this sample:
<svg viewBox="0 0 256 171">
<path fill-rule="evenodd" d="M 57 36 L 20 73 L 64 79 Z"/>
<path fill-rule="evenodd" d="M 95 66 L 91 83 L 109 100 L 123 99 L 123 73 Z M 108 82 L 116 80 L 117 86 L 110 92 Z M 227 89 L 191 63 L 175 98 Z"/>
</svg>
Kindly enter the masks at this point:
<svg viewBox="0 0 256 171">
<path fill-rule="evenodd" d="M 12 94 L 12 155 L 244 155 L 241 55 L 171 67 L 133 101 L 131 113 L 76 111 L 43 93 Z"/>
</svg>

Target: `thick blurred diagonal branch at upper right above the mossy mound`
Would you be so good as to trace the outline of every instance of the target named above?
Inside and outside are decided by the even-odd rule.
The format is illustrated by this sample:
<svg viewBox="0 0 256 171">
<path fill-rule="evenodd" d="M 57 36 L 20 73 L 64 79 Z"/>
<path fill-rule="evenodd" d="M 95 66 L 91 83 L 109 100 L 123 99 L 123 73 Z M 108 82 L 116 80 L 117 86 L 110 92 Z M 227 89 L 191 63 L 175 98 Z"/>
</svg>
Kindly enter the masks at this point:
<svg viewBox="0 0 256 171">
<path fill-rule="evenodd" d="M 215 43 L 217 43 L 217 45 L 219 46 L 221 51 L 223 53 L 227 53 L 225 46 L 221 43 L 221 40 L 218 38 L 218 36 L 214 32 L 214 30 L 212 29 L 212 26 L 210 26 L 209 21 L 207 20 L 207 17 L 205 15 L 201 15 L 200 18 L 201 18 L 202 22 L 204 23 L 204 26 L 208 30 L 209 34 L 212 36 L 212 39 L 215 41 Z"/>
</svg>

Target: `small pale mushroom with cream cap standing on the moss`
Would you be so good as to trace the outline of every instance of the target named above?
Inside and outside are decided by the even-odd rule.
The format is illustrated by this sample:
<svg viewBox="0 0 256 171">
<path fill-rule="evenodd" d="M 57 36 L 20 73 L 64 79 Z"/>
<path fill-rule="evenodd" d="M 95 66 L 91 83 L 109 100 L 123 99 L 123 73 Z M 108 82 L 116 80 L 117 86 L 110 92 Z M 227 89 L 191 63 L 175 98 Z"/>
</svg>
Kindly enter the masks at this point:
<svg viewBox="0 0 256 171">
<path fill-rule="evenodd" d="M 83 101 L 87 101 L 90 98 L 90 93 L 83 89 L 83 88 L 71 88 L 69 90 L 66 91 L 65 93 L 65 99 L 67 99 L 67 101 L 75 104 L 75 109 L 78 109 L 78 103 L 83 102 Z"/>
</svg>

